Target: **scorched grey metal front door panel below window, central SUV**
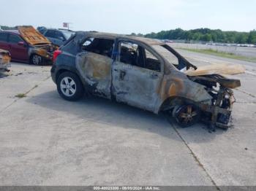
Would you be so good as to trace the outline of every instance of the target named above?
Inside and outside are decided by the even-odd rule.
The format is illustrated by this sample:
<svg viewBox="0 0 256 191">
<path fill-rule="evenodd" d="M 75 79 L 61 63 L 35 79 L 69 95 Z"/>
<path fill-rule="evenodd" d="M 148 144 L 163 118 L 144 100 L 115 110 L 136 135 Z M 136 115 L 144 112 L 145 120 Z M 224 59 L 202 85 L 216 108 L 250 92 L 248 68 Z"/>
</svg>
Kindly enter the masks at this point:
<svg viewBox="0 0 256 191">
<path fill-rule="evenodd" d="M 124 76 L 121 75 L 122 72 L 125 73 Z M 114 63 L 112 82 L 116 101 L 157 113 L 156 108 L 161 102 L 159 88 L 162 77 L 163 74 L 157 71 L 121 62 Z"/>
</svg>

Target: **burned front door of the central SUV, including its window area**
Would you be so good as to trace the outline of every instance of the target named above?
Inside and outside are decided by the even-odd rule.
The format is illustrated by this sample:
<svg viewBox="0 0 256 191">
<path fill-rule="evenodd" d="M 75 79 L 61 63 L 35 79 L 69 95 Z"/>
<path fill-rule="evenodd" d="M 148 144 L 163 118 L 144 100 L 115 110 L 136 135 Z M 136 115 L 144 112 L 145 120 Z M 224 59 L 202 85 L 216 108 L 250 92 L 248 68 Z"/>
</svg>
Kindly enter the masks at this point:
<svg viewBox="0 0 256 191">
<path fill-rule="evenodd" d="M 137 55 L 137 58 L 135 56 L 136 66 L 134 64 L 135 61 L 132 61 L 134 60 L 132 56 L 129 58 L 129 56 L 125 55 L 125 52 L 132 49 L 135 43 L 128 42 L 132 44 L 131 47 L 123 47 L 122 43 L 124 42 L 118 42 L 114 51 L 118 52 L 118 56 L 116 56 L 112 65 L 113 96 L 116 97 L 116 101 L 154 112 L 159 102 L 159 89 L 163 78 L 163 71 L 143 68 L 143 62 L 146 61 L 145 55 Z M 126 47 L 128 48 L 127 50 L 125 50 Z M 138 47 L 146 49 L 143 45 L 137 44 Z M 139 52 L 138 50 L 133 51 Z M 163 67 L 161 68 L 163 70 Z"/>
</svg>

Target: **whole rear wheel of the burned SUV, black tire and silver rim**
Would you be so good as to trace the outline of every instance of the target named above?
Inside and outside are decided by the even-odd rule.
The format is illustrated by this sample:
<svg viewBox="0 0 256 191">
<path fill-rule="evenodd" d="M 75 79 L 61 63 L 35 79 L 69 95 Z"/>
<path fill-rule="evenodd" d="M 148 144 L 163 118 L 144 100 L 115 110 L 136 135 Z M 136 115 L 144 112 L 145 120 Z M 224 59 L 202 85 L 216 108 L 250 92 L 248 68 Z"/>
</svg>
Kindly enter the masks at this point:
<svg viewBox="0 0 256 191">
<path fill-rule="evenodd" d="M 77 101 L 83 96 L 83 84 L 79 77 L 72 72 L 65 71 L 60 74 L 56 84 L 59 95 L 67 101 Z"/>
</svg>

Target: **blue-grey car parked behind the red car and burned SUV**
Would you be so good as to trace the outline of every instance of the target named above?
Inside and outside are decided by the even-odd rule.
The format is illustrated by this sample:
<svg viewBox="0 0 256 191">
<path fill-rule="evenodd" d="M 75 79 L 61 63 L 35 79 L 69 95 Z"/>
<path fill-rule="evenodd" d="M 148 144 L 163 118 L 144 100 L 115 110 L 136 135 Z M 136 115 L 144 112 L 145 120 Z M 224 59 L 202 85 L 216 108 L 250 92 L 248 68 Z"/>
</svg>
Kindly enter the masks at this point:
<svg viewBox="0 0 256 191">
<path fill-rule="evenodd" d="M 75 34 L 74 31 L 67 29 L 45 28 L 42 26 L 38 27 L 37 30 L 46 38 L 48 38 L 50 42 L 59 47 L 64 44 L 64 42 L 67 41 L 67 39 L 69 39 L 72 34 Z"/>
</svg>

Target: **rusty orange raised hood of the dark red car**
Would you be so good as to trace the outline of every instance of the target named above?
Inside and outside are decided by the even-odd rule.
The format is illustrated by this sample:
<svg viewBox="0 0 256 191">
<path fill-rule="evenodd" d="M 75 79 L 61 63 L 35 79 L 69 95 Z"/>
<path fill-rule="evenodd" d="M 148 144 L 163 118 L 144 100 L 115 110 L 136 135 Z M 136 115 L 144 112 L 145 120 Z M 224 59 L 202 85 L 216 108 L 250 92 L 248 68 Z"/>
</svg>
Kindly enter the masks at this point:
<svg viewBox="0 0 256 191">
<path fill-rule="evenodd" d="M 20 36 L 26 40 L 31 45 L 35 44 L 50 44 L 50 41 L 45 38 L 42 34 L 39 33 L 34 27 L 32 26 L 20 26 L 18 27 L 18 31 Z"/>
</svg>

